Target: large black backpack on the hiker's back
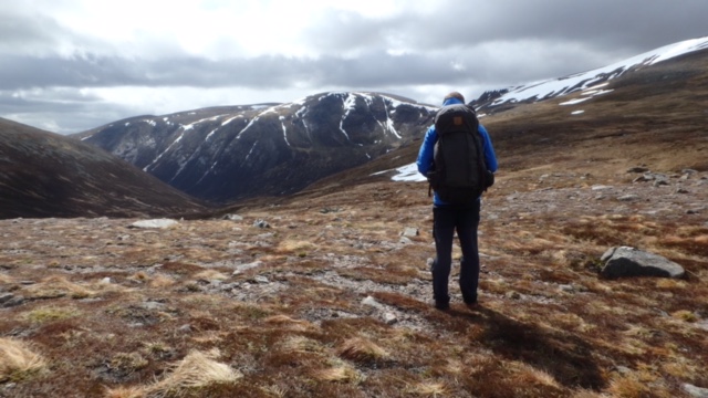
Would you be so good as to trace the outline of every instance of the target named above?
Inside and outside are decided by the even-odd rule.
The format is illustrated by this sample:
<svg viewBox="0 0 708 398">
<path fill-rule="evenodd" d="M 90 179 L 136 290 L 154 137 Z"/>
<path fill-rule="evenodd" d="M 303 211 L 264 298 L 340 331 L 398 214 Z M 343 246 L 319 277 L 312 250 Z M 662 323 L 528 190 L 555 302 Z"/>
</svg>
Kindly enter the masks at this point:
<svg viewBox="0 0 708 398">
<path fill-rule="evenodd" d="M 487 170 L 479 121 L 471 106 L 441 107 L 435 116 L 438 140 L 427 178 L 438 197 L 450 205 L 470 203 L 494 184 Z"/>
</svg>

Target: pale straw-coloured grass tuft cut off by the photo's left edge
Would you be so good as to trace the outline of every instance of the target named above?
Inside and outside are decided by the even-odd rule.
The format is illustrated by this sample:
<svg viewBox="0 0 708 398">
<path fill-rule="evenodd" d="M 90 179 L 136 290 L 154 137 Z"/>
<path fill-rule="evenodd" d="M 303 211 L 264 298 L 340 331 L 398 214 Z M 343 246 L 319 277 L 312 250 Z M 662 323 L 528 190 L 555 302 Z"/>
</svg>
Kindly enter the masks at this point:
<svg viewBox="0 0 708 398">
<path fill-rule="evenodd" d="M 44 358 L 27 344 L 0 337 L 0 383 L 24 379 L 45 366 Z"/>
</svg>

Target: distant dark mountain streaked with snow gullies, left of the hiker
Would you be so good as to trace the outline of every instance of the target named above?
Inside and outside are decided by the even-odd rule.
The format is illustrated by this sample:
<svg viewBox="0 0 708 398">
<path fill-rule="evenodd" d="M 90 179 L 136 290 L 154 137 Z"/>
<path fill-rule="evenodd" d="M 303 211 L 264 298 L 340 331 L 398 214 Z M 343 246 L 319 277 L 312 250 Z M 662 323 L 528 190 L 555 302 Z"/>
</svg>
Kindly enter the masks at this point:
<svg viewBox="0 0 708 398">
<path fill-rule="evenodd" d="M 75 135 L 191 196 L 282 196 L 419 138 L 435 107 L 375 93 L 322 93 L 140 116 Z"/>
</svg>

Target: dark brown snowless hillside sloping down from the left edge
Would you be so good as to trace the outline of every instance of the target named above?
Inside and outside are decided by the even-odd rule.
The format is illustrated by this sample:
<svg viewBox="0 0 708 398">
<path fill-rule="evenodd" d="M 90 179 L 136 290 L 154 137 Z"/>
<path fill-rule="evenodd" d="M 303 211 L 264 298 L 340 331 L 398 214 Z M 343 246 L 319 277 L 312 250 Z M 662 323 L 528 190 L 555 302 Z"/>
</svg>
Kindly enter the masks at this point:
<svg viewBox="0 0 708 398">
<path fill-rule="evenodd" d="M 198 200 L 100 148 L 0 118 L 0 219 L 204 209 Z"/>
</svg>

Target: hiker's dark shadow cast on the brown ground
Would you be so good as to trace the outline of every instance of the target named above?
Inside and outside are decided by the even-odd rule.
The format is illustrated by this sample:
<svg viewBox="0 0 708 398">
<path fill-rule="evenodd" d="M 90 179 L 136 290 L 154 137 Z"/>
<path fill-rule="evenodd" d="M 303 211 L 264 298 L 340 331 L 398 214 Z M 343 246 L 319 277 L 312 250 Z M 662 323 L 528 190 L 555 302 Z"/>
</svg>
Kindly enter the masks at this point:
<svg viewBox="0 0 708 398">
<path fill-rule="evenodd" d="M 462 321 L 465 325 L 458 327 L 470 323 L 482 326 L 483 332 L 476 341 L 494 354 L 543 369 L 568 388 L 601 390 L 606 387 L 593 360 L 592 346 L 576 335 L 521 323 L 483 306 L 471 313 L 451 310 L 448 314 L 450 322 Z"/>
</svg>

